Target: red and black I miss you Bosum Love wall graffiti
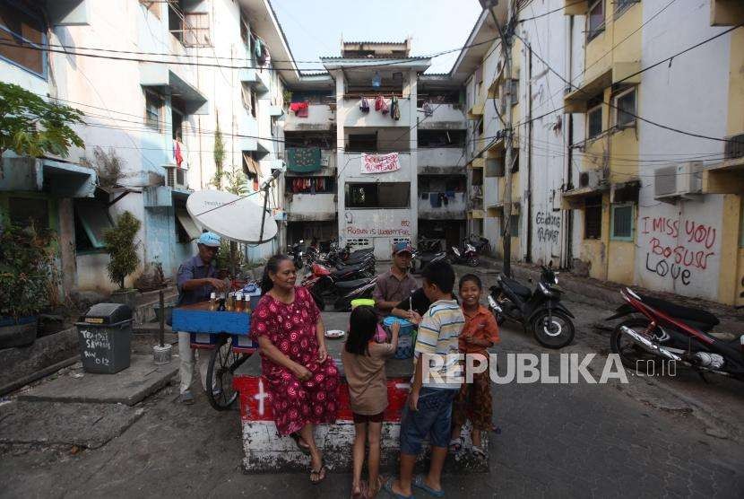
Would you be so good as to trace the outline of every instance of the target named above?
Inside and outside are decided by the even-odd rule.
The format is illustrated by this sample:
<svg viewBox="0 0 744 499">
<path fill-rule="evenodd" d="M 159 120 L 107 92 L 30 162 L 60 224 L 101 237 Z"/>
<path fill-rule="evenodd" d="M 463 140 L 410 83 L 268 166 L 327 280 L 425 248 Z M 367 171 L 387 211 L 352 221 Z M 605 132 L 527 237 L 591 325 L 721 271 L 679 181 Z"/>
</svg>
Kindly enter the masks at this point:
<svg viewBox="0 0 744 499">
<path fill-rule="evenodd" d="M 683 285 L 705 272 L 715 255 L 715 227 L 665 216 L 645 216 L 641 220 L 641 232 L 651 236 L 645 249 L 648 272 Z"/>
</svg>

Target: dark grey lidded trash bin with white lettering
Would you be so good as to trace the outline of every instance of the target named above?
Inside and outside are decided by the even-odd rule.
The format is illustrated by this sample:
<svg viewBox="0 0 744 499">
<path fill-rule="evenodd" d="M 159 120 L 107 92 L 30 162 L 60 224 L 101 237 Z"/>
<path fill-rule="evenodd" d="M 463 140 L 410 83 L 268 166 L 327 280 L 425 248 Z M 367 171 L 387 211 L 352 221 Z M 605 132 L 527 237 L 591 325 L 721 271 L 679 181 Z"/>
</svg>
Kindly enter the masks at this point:
<svg viewBox="0 0 744 499">
<path fill-rule="evenodd" d="M 93 305 L 75 325 L 82 369 L 113 374 L 129 367 L 132 357 L 132 309 L 128 305 Z"/>
</svg>

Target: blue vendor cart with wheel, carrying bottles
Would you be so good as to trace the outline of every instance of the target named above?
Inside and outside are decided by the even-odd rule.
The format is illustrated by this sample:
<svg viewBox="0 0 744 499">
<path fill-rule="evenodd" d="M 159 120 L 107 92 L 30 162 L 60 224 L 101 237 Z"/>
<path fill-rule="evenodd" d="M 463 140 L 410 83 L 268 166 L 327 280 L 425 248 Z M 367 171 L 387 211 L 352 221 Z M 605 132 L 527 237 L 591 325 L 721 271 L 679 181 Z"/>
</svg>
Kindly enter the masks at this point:
<svg viewBox="0 0 744 499">
<path fill-rule="evenodd" d="M 173 310 L 173 330 L 189 333 L 192 348 L 204 353 L 212 351 L 206 393 L 212 407 L 224 411 L 238 399 L 232 383 L 235 370 L 255 353 L 258 345 L 248 337 L 250 313 L 209 308 L 209 302 L 177 307 Z"/>
</svg>

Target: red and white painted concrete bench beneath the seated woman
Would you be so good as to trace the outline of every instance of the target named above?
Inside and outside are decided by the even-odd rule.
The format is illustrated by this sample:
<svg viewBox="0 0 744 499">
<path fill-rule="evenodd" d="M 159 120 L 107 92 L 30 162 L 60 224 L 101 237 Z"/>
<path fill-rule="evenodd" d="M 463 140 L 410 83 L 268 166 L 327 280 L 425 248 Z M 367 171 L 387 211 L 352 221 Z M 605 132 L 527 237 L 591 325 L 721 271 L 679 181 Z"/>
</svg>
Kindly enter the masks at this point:
<svg viewBox="0 0 744 499">
<path fill-rule="evenodd" d="M 339 414 L 333 425 L 316 427 L 316 443 L 324 454 L 324 464 L 331 471 L 350 471 L 352 465 L 351 445 L 354 441 L 354 423 L 349 405 L 349 390 L 343 378 L 341 362 L 341 340 L 328 340 L 331 355 L 342 374 L 339 386 Z M 411 359 L 390 359 L 385 365 L 389 405 L 385 410 L 380 442 L 380 467 L 389 471 L 397 466 L 399 457 L 399 435 L 401 413 L 408 397 L 409 381 L 413 373 Z M 243 468 L 249 473 L 277 471 L 307 471 L 309 457 L 298 450 L 288 436 L 279 436 L 273 423 L 271 397 L 265 390 L 261 378 L 259 355 L 253 355 L 240 366 L 234 376 L 240 404 L 240 423 L 243 431 Z M 483 459 L 470 451 L 470 432 L 463 429 L 463 452 L 448 457 L 446 471 L 467 470 L 487 472 L 488 456 Z M 488 449 L 488 435 L 483 435 L 484 447 Z M 428 445 L 420 455 L 421 464 L 428 460 Z"/>
</svg>

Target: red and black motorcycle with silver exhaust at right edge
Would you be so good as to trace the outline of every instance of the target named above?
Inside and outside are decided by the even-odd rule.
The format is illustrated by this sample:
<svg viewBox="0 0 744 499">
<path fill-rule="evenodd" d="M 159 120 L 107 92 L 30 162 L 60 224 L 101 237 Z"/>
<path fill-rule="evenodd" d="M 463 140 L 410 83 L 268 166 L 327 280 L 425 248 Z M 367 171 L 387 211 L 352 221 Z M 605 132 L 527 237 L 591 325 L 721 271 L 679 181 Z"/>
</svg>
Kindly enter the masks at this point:
<svg viewBox="0 0 744 499">
<path fill-rule="evenodd" d="M 679 362 L 700 374 L 714 372 L 744 381 L 744 335 L 732 341 L 710 331 L 720 321 L 709 311 L 684 307 L 653 296 L 620 291 L 623 303 L 607 320 L 624 320 L 612 331 L 610 350 L 631 369 L 638 363 Z"/>
</svg>

